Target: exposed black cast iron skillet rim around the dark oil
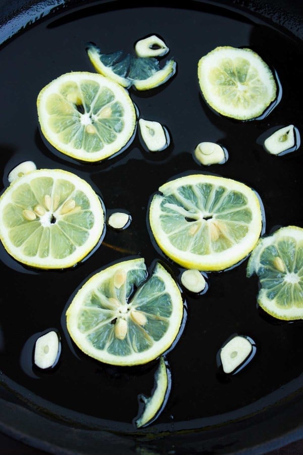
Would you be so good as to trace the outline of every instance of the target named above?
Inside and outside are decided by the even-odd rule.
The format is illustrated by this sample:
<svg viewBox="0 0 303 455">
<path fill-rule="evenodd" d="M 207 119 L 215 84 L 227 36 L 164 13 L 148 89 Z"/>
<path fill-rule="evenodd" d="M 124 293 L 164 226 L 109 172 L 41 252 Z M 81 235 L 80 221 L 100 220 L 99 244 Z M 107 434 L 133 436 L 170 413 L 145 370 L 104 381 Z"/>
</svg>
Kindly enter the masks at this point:
<svg viewBox="0 0 303 455">
<path fill-rule="evenodd" d="M 72 10 L 84 4 L 97 2 L 75 1 L 10 1 L 2 4 L 0 12 L 1 42 L 17 38 L 23 28 L 33 27 L 42 16 L 56 17 L 61 11 Z M 117 4 L 117 2 L 98 2 Z M 204 2 L 208 3 L 208 2 Z M 302 39 L 303 14 L 296 2 L 211 2 L 228 7 L 241 14 L 253 13 L 269 25 L 294 39 Z M 196 2 L 197 8 L 199 2 Z M 157 5 L 155 5 L 157 6 Z M 301 379 L 294 384 L 295 392 L 269 405 L 262 411 L 249 414 L 246 418 L 226 422 L 224 425 L 204 427 L 203 431 L 171 431 L 166 433 L 143 433 L 126 435 L 118 431 L 105 431 L 85 418 L 77 424 L 68 419 L 58 418 L 60 411 L 54 414 L 40 412 L 42 400 L 31 403 L 30 393 L 18 389 L 27 397 L 18 398 L 12 394 L 13 381 L 2 375 L 5 387 L 0 389 L 0 428 L 1 430 L 27 444 L 49 453 L 265 453 L 286 443 L 297 440 L 303 434 L 302 405 L 303 391 Z M 57 411 L 57 413 L 56 413 Z M 64 414 L 64 413 L 63 413 Z M 54 417 L 56 416 L 56 417 Z M 61 416 L 62 417 L 62 416 Z"/>
</svg>

